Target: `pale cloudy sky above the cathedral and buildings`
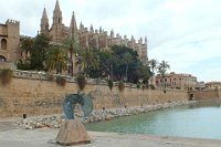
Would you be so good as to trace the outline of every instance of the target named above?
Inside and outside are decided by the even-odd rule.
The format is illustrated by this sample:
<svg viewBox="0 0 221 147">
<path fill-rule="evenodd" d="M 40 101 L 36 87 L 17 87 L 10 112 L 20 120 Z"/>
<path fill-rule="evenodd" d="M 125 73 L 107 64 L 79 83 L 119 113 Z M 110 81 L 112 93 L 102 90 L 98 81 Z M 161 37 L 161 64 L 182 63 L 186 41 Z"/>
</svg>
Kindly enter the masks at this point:
<svg viewBox="0 0 221 147">
<path fill-rule="evenodd" d="M 23 35 L 40 30 L 43 8 L 50 24 L 56 0 L 0 0 L 0 23 L 20 21 Z M 221 81 L 221 0 L 60 0 L 63 23 L 102 27 L 128 39 L 148 39 L 148 57 L 167 61 L 168 72 L 198 81 Z"/>
</svg>

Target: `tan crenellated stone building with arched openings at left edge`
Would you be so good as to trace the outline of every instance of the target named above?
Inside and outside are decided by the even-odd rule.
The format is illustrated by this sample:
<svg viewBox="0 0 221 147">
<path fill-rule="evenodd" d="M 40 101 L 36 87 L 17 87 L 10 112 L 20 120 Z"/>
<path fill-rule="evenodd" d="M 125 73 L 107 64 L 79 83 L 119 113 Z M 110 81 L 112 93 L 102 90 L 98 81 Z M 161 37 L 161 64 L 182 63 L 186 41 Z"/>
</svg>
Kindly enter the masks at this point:
<svg viewBox="0 0 221 147">
<path fill-rule="evenodd" d="M 19 59 L 20 22 L 7 20 L 0 23 L 0 64 L 15 62 Z M 4 63 L 2 63 L 4 62 Z"/>
</svg>

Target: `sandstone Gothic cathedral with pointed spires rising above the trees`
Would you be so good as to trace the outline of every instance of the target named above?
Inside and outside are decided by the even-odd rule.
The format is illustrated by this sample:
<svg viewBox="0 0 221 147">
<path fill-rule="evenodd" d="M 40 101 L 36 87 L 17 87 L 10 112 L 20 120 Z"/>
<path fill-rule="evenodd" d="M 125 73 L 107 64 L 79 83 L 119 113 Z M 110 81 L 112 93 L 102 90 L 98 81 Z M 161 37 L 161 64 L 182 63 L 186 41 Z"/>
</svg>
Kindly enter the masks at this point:
<svg viewBox="0 0 221 147">
<path fill-rule="evenodd" d="M 80 28 L 76 25 L 75 14 L 72 14 L 70 27 L 65 27 L 62 23 L 62 11 L 60 9 L 59 0 L 56 0 L 55 8 L 53 11 L 53 23 L 50 27 L 46 9 L 44 8 L 41 18 L 41 33 L 51 36 L 52 42 L 62 43 L 69 36 L 76 36 L 81 46 L 91 49 L 108 50 L 112 45 L 125 45 L 137 51 L 140 60 L 147 61 L 147 39 L 143 41 L 140 38 L 138 41 L 131 36 L 127 39 L 126 35 L 122 38 L 119 34 L 114 34 L 112 30 L 109 34 L 102 28 L 94 30 L 93 25 L 90 29 L 85 28 L 82 23 Z"/>
</svg>

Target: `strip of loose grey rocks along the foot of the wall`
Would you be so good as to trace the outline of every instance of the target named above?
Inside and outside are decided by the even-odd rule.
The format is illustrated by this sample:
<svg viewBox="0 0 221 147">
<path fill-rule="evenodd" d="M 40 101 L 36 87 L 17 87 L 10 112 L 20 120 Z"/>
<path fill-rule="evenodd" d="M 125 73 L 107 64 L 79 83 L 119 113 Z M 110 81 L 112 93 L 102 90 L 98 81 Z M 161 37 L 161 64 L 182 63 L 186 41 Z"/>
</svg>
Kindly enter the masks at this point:
<svg viewBox="0 0 221 147">
<path fill-rule="evenodd" d="M 189 104 L 196 104 L 194 101 L 182 101 L 182 102 L 171 102 L 171 103 L 164 103 L 164 104 L 156 104 L 156 105 L 144 105 L 144 106 L 130 106 L 130 107 L 118 107 L 118 108 L 103 108 L 103 109 L 95 109 L 88 117 L 82 117 L 82 113 L 75 113 L 75 116 L 81 119 L 84 124 L 87 123 L 96 123 L 101 120 L 110 120 L 116 117 L 123 116 L 130 116 L 130 115 L 138 115 L 148 112 L 155 112 L 160 109 L 167 109 L 175 106 L 182 106 Z M 13 123 L 17 128 L 22 129 L 34 129 L 34 128 L 42 128 L 42 127 L 50 127 L 50 128 L 60 128 L 62 123 L 65 120 L 64 115 L 54 115 L 54 116 L 42 116 L 41 118 L 27 118 L 20 119 Z"/>
</svg>

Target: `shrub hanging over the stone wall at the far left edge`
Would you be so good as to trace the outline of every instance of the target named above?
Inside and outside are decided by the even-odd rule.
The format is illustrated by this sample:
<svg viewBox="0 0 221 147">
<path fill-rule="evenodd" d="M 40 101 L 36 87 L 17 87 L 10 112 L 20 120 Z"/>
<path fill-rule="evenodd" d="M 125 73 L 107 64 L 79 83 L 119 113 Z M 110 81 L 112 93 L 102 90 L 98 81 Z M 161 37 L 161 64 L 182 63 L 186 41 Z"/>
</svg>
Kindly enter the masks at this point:
<svg viewBox="0 0 221 147">
<path fill-rule="evenodd" d="M 0 80 L 1 80 L 1 84 L 6 85 L 8 83 L 10 83 L 11 78 L 12 78 L 12 70 L 10 69 L 3 69 L 0 71 Z"/>
</svg>

